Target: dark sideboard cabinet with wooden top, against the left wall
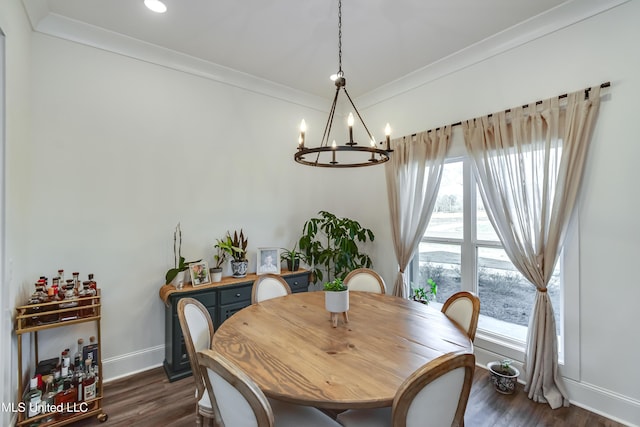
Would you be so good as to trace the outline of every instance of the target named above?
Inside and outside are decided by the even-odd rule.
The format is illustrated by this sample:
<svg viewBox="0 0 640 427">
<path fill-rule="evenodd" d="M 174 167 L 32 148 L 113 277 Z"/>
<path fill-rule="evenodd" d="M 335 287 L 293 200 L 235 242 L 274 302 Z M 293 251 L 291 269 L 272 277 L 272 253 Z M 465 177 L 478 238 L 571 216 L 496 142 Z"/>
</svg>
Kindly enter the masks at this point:
<svg viewBox="0 0 640 427">
<path fill-rule="evenodd" d="M 309 271 L 286 271 L 280 274 L 287 281 L 291 292 L 306 292 L 309 288 Z M 214 327 L 235 312 L 251 304 L 251 288 L 257 275 L 246 277 L 224 277 L 221 282 L 193 287 L 190 284 L 178 290 L 172 285 L 160 288 L 160 298 L 165 304 L 165 350 L 164 370 L 169 381 L 191 375 L 191 365 L 184 344 L 182 329 L 178 321 L 178 301 L 181 298 L 195 298 L 209 311 Z"/>
</svg>

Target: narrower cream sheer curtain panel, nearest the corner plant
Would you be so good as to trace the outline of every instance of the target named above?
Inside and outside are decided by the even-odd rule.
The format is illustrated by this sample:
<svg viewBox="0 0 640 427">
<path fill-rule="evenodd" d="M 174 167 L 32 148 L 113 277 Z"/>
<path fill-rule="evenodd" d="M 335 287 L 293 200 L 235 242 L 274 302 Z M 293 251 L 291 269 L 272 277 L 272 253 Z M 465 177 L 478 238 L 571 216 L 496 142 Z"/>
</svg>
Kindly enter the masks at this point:
<svg viewBox="0 0 640 427">
<path fill-rule="evenodd" d="M 398 260 L 393 294 L 407 298 L 405 270 L 431 218 L 451 145 L 451 126 L 395 139 L 392 143 L 394 152 L 385 164 L 385 173 L 391 235 Z"/>
</svg>

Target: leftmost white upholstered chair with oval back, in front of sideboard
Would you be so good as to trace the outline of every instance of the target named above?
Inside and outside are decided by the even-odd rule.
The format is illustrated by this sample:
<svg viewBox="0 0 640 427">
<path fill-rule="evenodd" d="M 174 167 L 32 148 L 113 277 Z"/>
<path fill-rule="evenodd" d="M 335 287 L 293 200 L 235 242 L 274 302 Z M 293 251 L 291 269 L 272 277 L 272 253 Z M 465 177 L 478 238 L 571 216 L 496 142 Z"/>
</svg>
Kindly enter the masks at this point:
<svg viewBox="0 0 640 427">
<path fill-rule="evenodd" d="M 196 383 L 196 425 L 208 425 L 214 419 L 214 412 L 209 393 L 206 392 L 197 353 L 211 347 L 213 340 L 213 322 L 206 307 L 193 298 L 181 298 L 178 301 L 178 320 L 187 348 L 191 372 Z"/>
</svg>

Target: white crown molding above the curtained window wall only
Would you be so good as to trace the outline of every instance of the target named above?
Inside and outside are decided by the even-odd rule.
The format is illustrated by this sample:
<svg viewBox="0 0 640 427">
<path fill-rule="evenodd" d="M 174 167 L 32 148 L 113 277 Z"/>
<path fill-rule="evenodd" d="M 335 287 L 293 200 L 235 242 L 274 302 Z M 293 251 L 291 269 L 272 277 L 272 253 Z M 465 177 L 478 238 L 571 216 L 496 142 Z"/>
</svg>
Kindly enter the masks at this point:
<svg viewBox="0 0 640 427">
<path fill-rule="evenodd" d="M 572 0 L 466 47 L 357 98 L 369 108 L 463 68 L 569 27 L 630 0 Z"/>
</svg>

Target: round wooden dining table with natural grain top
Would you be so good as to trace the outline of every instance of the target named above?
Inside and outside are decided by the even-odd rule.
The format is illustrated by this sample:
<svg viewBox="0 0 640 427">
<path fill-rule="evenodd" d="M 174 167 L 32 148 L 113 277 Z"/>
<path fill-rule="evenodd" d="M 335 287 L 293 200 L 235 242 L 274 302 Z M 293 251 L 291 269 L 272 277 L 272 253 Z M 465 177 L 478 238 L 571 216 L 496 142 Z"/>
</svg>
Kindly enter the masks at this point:
<svg viewBox="0 0 640 427">
<path fill-rule="evenodd" d="M 403 298 L 351 291 L 337 328 L 324 292 L 250 305 L 215 331 L 212 347 L 269 397 L 326 409 L 391 406 L 402 382 L 449 352 L 473 352 L 439 310 Z"/>
</svg>

